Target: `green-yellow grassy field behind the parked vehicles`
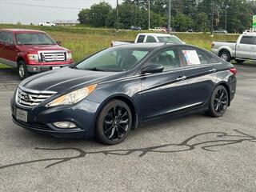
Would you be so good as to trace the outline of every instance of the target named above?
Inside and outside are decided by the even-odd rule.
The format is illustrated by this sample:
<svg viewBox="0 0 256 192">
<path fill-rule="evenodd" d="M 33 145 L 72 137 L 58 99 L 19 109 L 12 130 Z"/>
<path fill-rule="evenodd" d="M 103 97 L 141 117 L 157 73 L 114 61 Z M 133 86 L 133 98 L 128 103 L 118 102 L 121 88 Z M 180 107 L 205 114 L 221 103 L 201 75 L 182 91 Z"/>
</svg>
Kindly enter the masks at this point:
<svg viewBox="0 0 256 192">
<path fill-rule="evenodd" d="M 113 40 L 134 40 L 138 34 L 138 32 L 134 31 L 120 30 L 116 32 L 114 29 L 95 29 L 84 26 L 46 27 L 2 24 L 0 25 L 1 28 L 44 30 L 55 40 L 61 41 L 62 46 L 72 50 L 74 61 L 110 47 L 110 43 Z M 210 37 L 210 34 L 175 33 L 175 35 L 186 42 L 186 44 L 200 46 L 206 50 L 210 50 L 210 44 L 213 41 L 236 41 L 238 38 L 238 34 L 216 34 L 214 37 Z M 0 68 L 2 67 L 5 66 L 0 64 Z"/>
</svg>

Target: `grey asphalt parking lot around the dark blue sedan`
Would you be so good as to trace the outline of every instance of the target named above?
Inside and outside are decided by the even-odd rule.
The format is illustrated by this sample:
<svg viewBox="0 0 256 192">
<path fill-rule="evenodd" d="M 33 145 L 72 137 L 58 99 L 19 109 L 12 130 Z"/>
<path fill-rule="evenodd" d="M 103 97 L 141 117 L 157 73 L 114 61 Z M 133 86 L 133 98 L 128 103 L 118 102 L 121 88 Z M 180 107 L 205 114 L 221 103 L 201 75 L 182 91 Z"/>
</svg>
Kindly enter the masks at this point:
<svg viewBox="0 0 256 192">
<path fill-rule="evenodd" d="M 222 118 L 148 122 L 117 146 L 14 125 L 15 70 L 0 70 L 0 191 L 256 191 L 256 67 L 237 66 Z"/>
</svg>

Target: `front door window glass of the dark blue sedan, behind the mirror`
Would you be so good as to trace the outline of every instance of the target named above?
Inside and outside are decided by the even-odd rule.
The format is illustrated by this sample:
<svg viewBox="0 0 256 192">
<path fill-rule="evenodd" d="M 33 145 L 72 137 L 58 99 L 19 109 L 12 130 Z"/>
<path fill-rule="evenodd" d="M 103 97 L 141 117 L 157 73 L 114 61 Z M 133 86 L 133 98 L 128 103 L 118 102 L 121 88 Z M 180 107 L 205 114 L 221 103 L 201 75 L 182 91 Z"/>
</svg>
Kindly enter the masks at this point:
<svg viewBox="0 0 256 192">
<path fill-rule="evenodd" d="M 164 70 L 171 70 L 181 67 L 181 62 L 178 57 L 178 50 L 168 49 L 163 50 L 154 58 L 150 59 L 150 63 L 160 64 L 164 66 Z"/>
</svg>

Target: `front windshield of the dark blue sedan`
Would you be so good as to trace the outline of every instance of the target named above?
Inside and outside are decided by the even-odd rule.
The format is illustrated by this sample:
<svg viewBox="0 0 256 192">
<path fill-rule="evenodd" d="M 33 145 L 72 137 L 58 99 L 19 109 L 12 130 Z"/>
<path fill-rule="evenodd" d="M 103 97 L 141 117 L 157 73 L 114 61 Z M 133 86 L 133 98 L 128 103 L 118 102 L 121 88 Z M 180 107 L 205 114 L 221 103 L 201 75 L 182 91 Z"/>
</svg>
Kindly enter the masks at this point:
<svg viewBox="0 0 256 192">
<path fill-rule="evenodd" d="M 110 48 L 94 54 L 74 66 L 78 70 L 126 71 L 142 61 L 150 52 L 148 48 Z"/>
</svg>

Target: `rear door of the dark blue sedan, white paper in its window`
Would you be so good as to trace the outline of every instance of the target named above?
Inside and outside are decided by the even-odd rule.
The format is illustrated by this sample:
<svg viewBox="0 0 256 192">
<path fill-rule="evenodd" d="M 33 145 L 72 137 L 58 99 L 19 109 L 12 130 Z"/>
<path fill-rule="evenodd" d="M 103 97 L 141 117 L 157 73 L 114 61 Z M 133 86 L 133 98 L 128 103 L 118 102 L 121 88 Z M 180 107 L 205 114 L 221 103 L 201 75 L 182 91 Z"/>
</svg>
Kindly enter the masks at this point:
<svg viewBox="0 0 256 192">
<path fill-rule="evenodd" d="M 182 48 L 186 62 L 188 106 L 202 106 L 208 101 L 217 80 L 216 63 L 220 63 L 205 50 Z"/>
</svg>

